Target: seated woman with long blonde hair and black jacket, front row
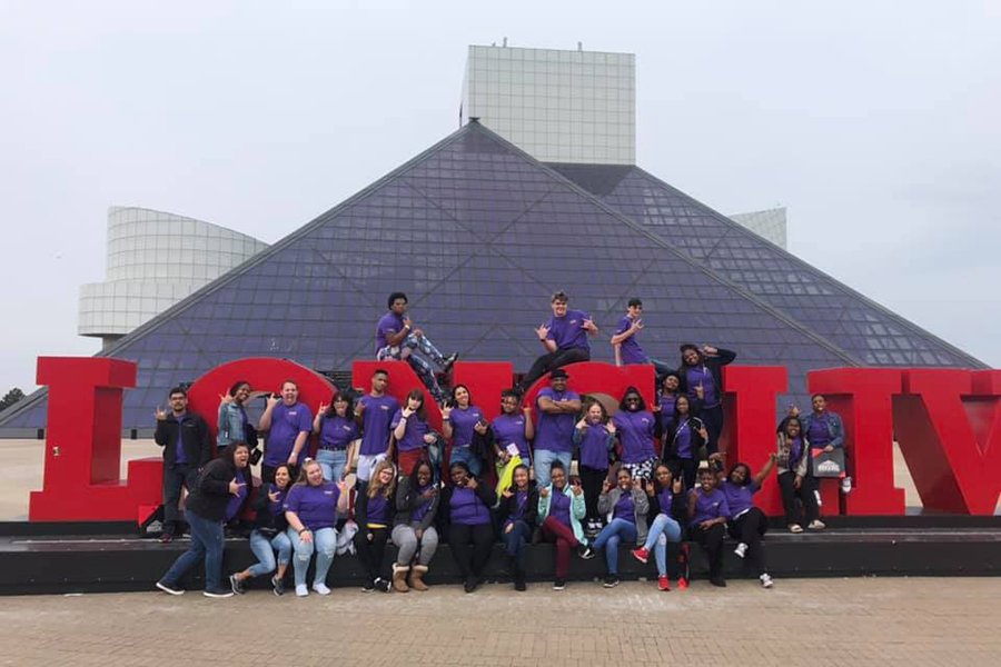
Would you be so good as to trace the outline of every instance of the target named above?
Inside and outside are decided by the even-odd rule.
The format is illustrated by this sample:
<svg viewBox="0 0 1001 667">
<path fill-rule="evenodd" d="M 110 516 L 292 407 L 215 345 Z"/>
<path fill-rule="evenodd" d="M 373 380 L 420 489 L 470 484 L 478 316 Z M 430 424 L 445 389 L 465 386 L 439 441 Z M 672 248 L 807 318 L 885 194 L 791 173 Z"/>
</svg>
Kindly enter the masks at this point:
<svg viewBox="0 0 1001 667">
<path fill-rule="evenodd" d="M 396 467 L 390 461 L 379 461 L 371 471 L 368 485 L 355 499 L 355 550 L 365 568 L 361 590 L 389 593 L 389 576 L 383 576 L 383 555 L 396 511 Z"/>
</svg>

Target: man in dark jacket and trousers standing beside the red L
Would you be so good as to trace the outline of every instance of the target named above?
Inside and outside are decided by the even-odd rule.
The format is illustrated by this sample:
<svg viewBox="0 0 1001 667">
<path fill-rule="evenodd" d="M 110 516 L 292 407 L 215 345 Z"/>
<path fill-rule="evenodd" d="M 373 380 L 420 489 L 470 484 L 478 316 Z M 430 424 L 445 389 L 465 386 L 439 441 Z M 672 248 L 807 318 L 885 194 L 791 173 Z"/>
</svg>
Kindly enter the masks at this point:
<svg viewBox="0 0 1001 667">
<path fill-rule="evenodd" d="M 212 458 L 211 439 L 205 419 L 188 412 L 188 392 L 175 387 L 168 396 L 170 412 L 157 408 L 153 441 L 163 448 L 163 530 L 160 541 L 169 542 L 179 532 L 177 504 L 181 487 L 191 492 L 198 472 Z"/>
</svg>

